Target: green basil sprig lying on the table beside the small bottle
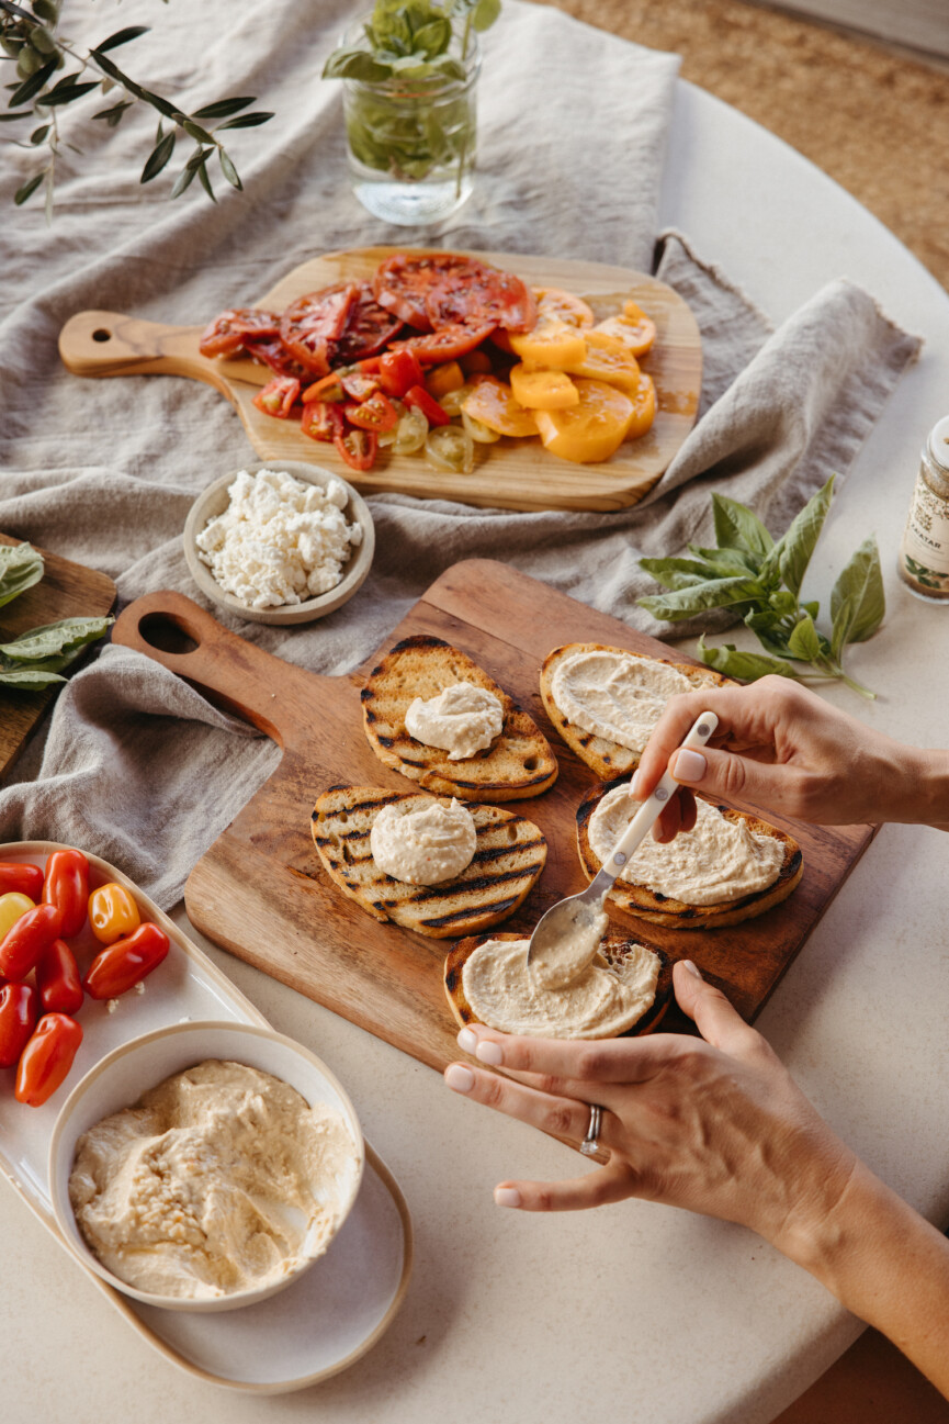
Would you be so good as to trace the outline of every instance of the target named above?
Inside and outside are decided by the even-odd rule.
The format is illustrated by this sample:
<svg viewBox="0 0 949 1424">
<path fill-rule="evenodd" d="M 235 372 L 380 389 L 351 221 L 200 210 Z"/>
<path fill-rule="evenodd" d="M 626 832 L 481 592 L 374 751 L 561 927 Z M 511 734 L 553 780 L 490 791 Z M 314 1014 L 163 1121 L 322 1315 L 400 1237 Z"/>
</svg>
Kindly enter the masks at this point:
<svg viewBox="0 0 949 1424">
<path fill-rule="evenodd" d="M 876 693 L 849 678 L 842 652 L 849 642 L 871 638 L 886 612 L 884 577 L 876 540 L 864 540 L 839 574 L 831 592 L 829 637 L 820 631 L 818 602 L 801 602 L 804 574 L 817 545 L 834 494 L 831 476 L 808 500 L 780 540 L 773 540 L 747 506 L 713 494 L 717 548 L 689 545 L 693 558 L 643 558 L 664 594 L 640 598 L 654 618 L 677 622 L 711 608 L 727 608 L 751 628 L 764 652 L 740 652 L 734 644 L 707 648 L 704 634 L 699 656 L 719 672 L 753 682 L 767 674 L 784 678 L 839 679 L 859 692 Z M 805 668 L 792 666 L 794 662 Z"/>
</svg>

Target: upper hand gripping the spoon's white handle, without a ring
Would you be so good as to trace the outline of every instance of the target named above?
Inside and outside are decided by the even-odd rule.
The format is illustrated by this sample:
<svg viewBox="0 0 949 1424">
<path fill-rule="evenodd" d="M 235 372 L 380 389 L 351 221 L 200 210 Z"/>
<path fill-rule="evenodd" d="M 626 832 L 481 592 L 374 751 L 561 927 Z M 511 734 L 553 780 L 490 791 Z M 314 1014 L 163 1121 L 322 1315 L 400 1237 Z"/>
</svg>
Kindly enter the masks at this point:
<svg viewBox="0 0 949 1424">
<path fill-rule="evenodd" d="M 676 750 L 704 711 L 719 718 L 709 748 Z M 656 840 L 691 830 L 693 786 L 821 824 L 949 822 L 946 752 L 903 746 L 790 678 L 672 698 L 639 762 L 633 795 L 645 800 L 666 768 L 686 785 L 656 823 Z"/>
</svg>

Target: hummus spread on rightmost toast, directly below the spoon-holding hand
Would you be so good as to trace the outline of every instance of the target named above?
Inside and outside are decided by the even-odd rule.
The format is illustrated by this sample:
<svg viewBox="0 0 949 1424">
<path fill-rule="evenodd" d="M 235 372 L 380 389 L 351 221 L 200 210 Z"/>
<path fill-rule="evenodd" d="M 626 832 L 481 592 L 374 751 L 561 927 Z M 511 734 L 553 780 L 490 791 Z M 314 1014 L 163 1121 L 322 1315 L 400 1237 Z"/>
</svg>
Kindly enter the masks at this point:
<svg viewBox="0 0 949 1424">
<path fill-rule="evenodd" d="M 608 859 L 640 806 L 626 786 L 603 796 L 589 824 L 590 850 L 599 862 Z M 727 820 L 709 802 L 699 800 L 696 807 L 694 830 L 680 832 L 667 844 L 646 836 L 619 879 L 694 906 L 740 900 L 774 884 L 784 863 L 780 840 L 750 830 L 744 820 Z"/>
</svg>

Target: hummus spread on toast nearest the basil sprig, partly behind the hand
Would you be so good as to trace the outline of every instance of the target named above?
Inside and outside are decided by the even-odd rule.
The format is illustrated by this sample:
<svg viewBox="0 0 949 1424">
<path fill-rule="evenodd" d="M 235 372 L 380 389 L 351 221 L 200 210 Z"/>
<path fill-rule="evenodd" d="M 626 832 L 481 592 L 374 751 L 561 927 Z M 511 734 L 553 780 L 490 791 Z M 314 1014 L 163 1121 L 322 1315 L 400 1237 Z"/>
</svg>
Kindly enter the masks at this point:
<svg viewBox="0 0 949 1424">
<path fill-rule="evenodd" d="M 669 698 L 714 685 L 714 678 L 686 678 L 654 658 L 596 649 L 558 662 L 551 696 L 582 732 L 643 752 Z"/>
</svg>

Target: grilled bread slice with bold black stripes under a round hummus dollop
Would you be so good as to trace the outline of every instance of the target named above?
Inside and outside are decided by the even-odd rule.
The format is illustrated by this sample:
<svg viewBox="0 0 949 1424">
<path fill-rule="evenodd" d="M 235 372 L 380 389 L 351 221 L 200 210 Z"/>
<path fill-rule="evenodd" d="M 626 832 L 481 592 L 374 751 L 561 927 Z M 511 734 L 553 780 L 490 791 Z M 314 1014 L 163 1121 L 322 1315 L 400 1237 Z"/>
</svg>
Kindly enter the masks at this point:
<svg viewBox="0 0 949 1424">
<path fill-rule="evenodd" d="M 376 920 L 434 938 L 499 924 L 526 899 L 546 860 L 546 840 L 524 816 L 470 803 L 478 849 L 460 876 L 437 886 L 396 880 L 373 860 L 369 836 L 383 806 L 407 802 L 421 807 L 434 799 L 380 786 L 332 786 L 312 817 L 320 860 L 343 894 Z"/>
</svg>

